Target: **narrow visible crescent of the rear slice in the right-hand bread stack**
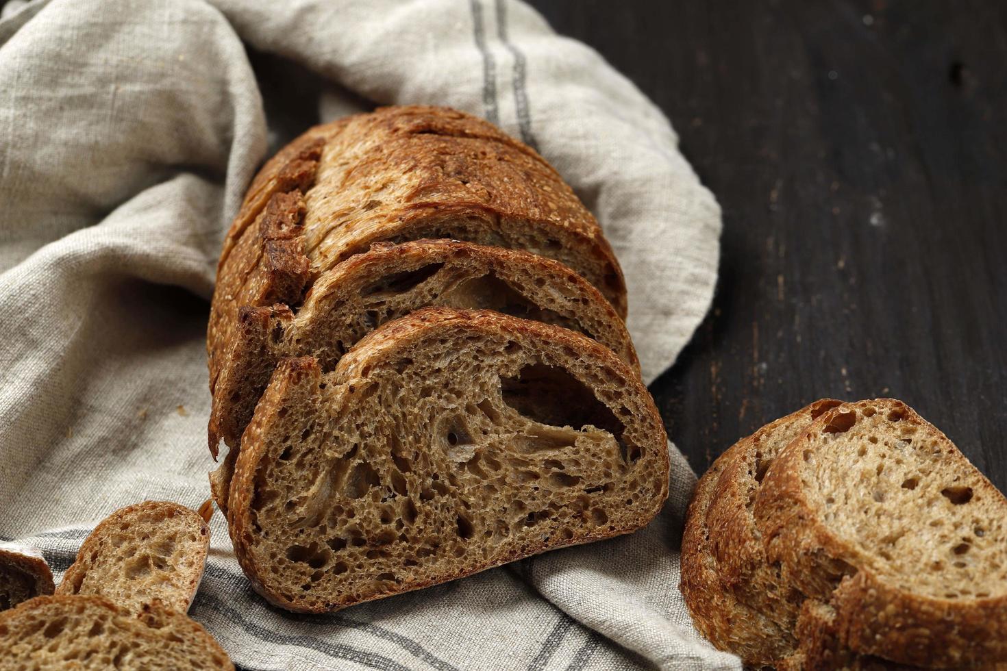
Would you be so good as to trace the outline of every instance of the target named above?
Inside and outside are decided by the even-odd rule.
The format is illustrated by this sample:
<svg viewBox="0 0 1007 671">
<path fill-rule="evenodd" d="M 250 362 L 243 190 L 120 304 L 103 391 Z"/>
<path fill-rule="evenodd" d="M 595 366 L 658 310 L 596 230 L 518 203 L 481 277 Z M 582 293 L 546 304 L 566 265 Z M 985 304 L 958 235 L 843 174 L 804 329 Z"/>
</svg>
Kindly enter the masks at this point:
<svg viewBox="0 0 1007 671">
<path fill-rule="evenodd" d="M 804 597 L 782 579 L 779 566 L 766 561 L 752 506 L 776 455 L 840 403 L 817 400 L 740 441 L 736 453 L 725 460 L 706 514 L 723 588 L 788 632 L 794 631 Z"/>
</svg>

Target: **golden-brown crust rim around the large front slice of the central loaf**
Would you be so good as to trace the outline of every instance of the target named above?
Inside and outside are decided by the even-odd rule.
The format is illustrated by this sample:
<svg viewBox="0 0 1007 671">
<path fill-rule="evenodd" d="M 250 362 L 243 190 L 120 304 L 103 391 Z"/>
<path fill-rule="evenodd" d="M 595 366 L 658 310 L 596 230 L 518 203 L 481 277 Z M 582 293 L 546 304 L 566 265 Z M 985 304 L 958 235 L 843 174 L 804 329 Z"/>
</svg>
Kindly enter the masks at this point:
<svg viewBox="0 0 1007 671">
<path fill-rule="evenodd" d="M 636 387 L 639 398 L 643 402 L 644 413 L 634 416 L 633 422 L 639 427 L 646 427 L 648 434 L 653 438 L 650 443 L 654 448 L 653 455 L 657 458 L 657 464 L 649 472 L 666 474 L 662 481 L 661 492 L 653 500 L 646 501 L 646 507 L 637 504 L 637 514 L 631 524 L 625 526 L 594 527 L 576 530 L 572 539 L 560 539 L 553 537 L 549 540 L 540 540 L 537 543 L 530 543 L 514 549 L 506 556 L 496 557 L 492 561 L 480 564 L 474 570 L 458 570 L 444 572 L 434 579 L 407 579 L 393 591 L 375 593 L 361 597 L 359 595 L 340 595 L 331 598 L 323 607 L 305 606 L 305 604 L 285 598 L 272 584 L 276 577 L 265 572 L 268 566 L 260 566 L 253 552 L 253 546 L 258 542 L 257 535 L 258 522 L 253 512 L 253 501 L 257 496 L 259 479 L 264 477 L 261 472 L 263 462 L 267 458 L 265 454 L 266 441 L 263 436 L 270 427 L 282 416 L 289 408 L 304 401 L 301 397 L 302 390 L 316 389 L 322 383 L 322 372 L 318 362 L 311 357 L 298 359 L 285 359 L 277 367 L 273 378 L 260 400 L 252 423 L 249 425 L 242 440 L 242 450 L 238 457 L 238 463 L 234 478 L 230 487 L 230 498 L 228 505 L 228 519 L 232 540 L 234 542 L 235 553 L 246 574 L 252 581 L 257 592 L 262 594 L 271 603 L 282 608 L 299 612 L 323 612 L 337 610 L 339 608 L 382 599 L 394 594 L 419 590 L 430 584 L 445 582 L 464 575 L 471 574 L 478 570 L 484 570 L 492 566 L 500 565 L 515 559 L 530 556 L 547 549 L 553 549 L 565 545 L 573 545 L 591 542 L 601 538 L 628 533 L 649 522 L 661 508 L 661 503 L 668 495 L 667 473 L 669 468 L 668 454 L 665 449 L 667 439 L 664 435 L 664 427 L 661 422 L 657 407 L 653 399 L 646 392 L 642 383 L 638 381 L 635 373 L 610 350 L 597 344 L 596 342 L 572 331 L 559 327 L 532 322 L 529 320 L 517 319 L 508 315 L 491 311 L 458 311 L 446 308 L 426 308 L 412 313 L 402 319 L 390 322 L 362 340 L 354 349 L 344 356 L 336 370 L 324 378 L 325 384 L 335 384 L 335 380 L 341 380 L 334 388 L 333 393 L 348 393 L 346 388 L 352 389 L 352 385 L 362 377 L 363 371 L 370 370 L 373 366 L 380 365 L 382 361 L 389 360 L 394 356 L 398 348 L 402 348 L 414 340 L 426 337 L 435 337 L 438 333 L 451 333 L 458 335 L 465 331 L 473 334 L 479 332 L 503 332 L 508 337 L 518 340 L 536 339 L 546 343 L 551 348 L 569 349 L 579 353 L 584 360 L 595 361 L 597 369 L 604 371 L 604 374 L 618 377 L 625 380 L 630 385 Z M 345 383 L 343 383 L 345 382 Z"/>
</svg>

